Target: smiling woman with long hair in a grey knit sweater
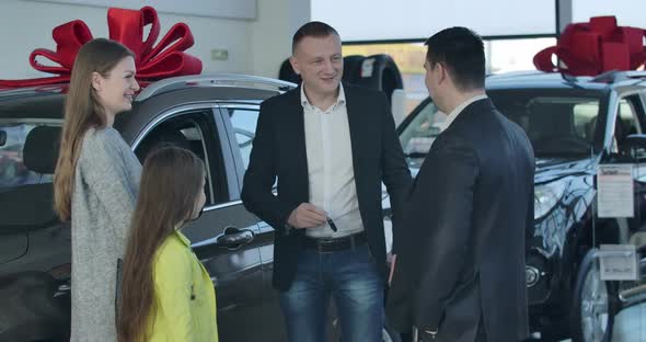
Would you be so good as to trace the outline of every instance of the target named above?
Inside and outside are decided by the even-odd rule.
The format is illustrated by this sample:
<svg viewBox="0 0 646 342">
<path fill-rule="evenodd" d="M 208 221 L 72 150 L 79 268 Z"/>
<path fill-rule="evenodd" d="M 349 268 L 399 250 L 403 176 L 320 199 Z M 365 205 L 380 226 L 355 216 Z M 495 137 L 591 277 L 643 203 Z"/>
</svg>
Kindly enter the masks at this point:
<svg viewBox="0 0 646 342">
<path fill-rule="evenodd" d="M 112 126 L 132 106 L 134 54 L 97 38 L 74 60 L 54 174 L 55 209 L 71 220 L 71 340 L 115 341 L 117 260 L 123 258 L 141 164 Z"/>
</svg>

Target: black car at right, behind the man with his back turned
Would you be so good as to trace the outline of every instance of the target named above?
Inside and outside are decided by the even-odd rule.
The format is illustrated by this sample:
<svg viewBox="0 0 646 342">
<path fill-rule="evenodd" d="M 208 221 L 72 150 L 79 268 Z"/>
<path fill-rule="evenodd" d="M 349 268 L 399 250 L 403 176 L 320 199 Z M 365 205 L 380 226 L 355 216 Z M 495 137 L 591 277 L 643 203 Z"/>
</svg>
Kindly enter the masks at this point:
<svg viewBox="0 0 646 342">
<path fill-rule="evenodd" d="M 638 166 L 645 157 L 635 148 L 646 146 L 646 73 L 500 75 L 487 78 L 486 92 L 526 130 L 537 157 L 534 227 L 527 231 L 531 329 L 542 341 L 609 341 L 622 284 L 600 280 L 593 248 L 646 243 L 646 168 L 634 172 L 634 218 L 598 217 L 596 175 L 600 163 Z M 414 174 L 445 117 L 426 99 L 397 127 Z"/>
</svg>

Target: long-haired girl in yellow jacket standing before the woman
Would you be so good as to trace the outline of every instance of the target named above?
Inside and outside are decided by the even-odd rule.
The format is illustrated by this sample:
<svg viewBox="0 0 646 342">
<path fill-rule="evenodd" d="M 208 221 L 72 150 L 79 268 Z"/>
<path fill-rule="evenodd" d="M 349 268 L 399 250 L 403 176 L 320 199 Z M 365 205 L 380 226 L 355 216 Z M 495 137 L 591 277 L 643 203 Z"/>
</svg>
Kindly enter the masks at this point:
<svg viewBox="0 0 646 342">
<path fill-rule="evenodd" d="M 124 259 L 120 342 L 218 341 L 214 284 L 180 231 L 201 214 L 204 186 L 204 163 L 188 150 L 146 159 Z"/>
</svg>

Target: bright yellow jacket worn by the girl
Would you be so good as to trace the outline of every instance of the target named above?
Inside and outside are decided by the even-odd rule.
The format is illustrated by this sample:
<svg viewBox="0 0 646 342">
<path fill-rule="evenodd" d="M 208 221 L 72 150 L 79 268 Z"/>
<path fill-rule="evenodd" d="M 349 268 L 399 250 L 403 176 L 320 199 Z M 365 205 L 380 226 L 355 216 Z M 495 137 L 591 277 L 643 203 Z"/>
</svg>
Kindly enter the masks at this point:
<svg viewBox="0 0 646 342">
<path fill-rule="evenodd" d="M 180 230 L 157 251 L 153 280 L 149 341 L 218 341 L 214 283 Z"/>
</svg>

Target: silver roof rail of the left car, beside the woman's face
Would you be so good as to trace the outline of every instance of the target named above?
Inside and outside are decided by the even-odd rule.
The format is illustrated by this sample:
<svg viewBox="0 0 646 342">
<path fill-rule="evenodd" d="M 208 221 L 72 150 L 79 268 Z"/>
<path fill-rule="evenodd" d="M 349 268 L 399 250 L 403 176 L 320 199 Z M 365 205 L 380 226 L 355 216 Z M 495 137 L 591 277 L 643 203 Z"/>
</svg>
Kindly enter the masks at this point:
<svg viewBox="0 0 646 342">
<path fill-rule="evenodd" d="M 191 87 L 240 87 L 263 88 L 275 91 L 288 91 L 297 87 L 291 82 L 275 80 L 267 77 L 240 75 L 240 73 L 214 73 L 191 75 L 163 79 L 143 88 L 135 101 L 143 101 L 153 95 L 171 90 L 186 89 Z"/>
</svg>

